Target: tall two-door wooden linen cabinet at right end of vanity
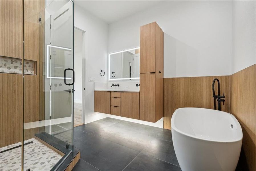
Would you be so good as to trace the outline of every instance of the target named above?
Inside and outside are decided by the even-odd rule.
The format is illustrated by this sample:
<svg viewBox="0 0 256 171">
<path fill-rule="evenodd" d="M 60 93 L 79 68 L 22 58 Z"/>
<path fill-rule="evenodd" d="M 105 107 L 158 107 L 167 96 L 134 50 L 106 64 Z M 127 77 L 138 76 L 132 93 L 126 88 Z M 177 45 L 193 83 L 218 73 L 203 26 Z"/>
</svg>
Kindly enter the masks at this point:
<svg viewBox="0 0 256 171">
<path fill-rule="evenodd" d="M 156 22 L 140 27 L 140 120 L 163 117 L 164 32 Z"/>
</svg>

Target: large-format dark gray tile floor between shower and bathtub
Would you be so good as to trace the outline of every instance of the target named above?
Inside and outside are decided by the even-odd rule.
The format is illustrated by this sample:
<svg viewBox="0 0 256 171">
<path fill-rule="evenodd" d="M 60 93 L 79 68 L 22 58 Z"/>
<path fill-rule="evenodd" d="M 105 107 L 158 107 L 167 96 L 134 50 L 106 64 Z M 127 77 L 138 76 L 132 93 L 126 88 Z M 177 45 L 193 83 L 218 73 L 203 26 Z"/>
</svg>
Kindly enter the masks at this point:
<svg viewBox="0 0 256 171">
<path fill-rule="evenodd" d="M 113 118 L 74 128 L 78 170 L 181 170 L 171 131 Z"/>
</svg>

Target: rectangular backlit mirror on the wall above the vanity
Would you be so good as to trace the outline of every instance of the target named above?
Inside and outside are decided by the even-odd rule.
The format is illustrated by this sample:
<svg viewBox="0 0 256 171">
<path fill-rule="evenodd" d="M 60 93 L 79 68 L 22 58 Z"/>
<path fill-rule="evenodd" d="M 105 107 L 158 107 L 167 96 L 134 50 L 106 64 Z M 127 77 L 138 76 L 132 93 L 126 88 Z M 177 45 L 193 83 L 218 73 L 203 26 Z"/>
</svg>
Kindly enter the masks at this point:
<svg viewBox="0 0 256 171">
<path fill-rule="evenodd" d="M 134 80 L 139 74 L 139 47 L 109 54 L 109 80 Z"/>
</svg>

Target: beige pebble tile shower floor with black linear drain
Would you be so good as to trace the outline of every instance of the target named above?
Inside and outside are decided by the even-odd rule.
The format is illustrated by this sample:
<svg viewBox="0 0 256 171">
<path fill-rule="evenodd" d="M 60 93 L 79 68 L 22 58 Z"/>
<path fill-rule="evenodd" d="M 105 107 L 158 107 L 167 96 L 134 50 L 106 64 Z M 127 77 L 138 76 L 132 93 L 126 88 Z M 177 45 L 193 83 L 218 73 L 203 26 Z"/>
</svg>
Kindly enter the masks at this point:
<svg viewBox="0 0 256 171">
<path fill-rule="evenodd" d="M 31 141 L 33 143 L 24 146 L 24 170 L 30 168 L 31 171 L 49 171 L 62 158 L 61 155 L 34 138 L 24 141 L 24 144 Z M 0 151 L 18 145 L 21 145 L 21 142 L 0 148 Z M 15 170 L 21 170 L 21 147 L 0 154 L 0 171 Z"/>
</svg>

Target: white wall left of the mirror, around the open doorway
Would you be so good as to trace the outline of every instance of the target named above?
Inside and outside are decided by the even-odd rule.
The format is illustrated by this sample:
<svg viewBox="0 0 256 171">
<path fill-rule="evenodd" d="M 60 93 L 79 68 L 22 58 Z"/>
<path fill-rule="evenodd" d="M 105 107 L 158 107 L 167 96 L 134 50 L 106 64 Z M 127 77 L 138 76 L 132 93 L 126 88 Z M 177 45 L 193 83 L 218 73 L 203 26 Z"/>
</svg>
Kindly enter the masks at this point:
<svg viewBox="0 0 256 171">
<path fill-rule="evenodd" d="M 86 123 L 103 118 L 103 114 L 94 112 L 94 77 L 97 82 L 106 82 L 107 74 L 100 76 L 100 71 L 107 73 L 108 25 L 88 13 L 74 2 L 74 26 L 85 31 L 85 118 Z"/>
</svg>

